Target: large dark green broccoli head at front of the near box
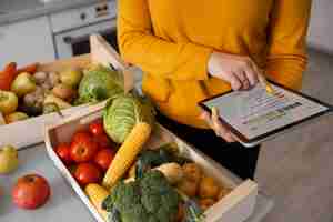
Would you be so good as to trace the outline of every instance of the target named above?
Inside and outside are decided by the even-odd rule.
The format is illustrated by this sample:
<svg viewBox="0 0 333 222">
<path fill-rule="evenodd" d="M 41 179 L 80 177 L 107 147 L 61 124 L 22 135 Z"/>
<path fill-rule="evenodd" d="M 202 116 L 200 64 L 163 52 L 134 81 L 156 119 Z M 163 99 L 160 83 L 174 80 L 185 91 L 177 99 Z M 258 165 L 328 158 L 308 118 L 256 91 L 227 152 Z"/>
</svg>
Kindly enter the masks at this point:
<svg viewBox="0 0 333 222">
<path fill-rule="evenodd" d="M 103 201 L 109 222 L 174 222 L 181 196 L 159 171 L 131 183 L 119 182 Z"/>
</svg>

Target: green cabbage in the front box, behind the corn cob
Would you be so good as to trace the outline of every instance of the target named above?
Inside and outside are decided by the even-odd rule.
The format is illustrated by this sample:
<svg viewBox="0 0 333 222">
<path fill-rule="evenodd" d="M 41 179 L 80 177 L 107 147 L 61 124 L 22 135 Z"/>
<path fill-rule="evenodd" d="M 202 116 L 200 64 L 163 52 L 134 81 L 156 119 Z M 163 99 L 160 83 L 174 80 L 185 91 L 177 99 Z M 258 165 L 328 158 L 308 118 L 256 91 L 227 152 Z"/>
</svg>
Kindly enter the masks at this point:
<svg viewBox="0 0 333 222">
<path fill-rule="evenodd" d="M 121 94 L 108 102 L 103 124 L 114 142 L 122 143 L 138 122 L 154 124 L 154 109 L 148 100 L 133 94 Z"/>
</svg>

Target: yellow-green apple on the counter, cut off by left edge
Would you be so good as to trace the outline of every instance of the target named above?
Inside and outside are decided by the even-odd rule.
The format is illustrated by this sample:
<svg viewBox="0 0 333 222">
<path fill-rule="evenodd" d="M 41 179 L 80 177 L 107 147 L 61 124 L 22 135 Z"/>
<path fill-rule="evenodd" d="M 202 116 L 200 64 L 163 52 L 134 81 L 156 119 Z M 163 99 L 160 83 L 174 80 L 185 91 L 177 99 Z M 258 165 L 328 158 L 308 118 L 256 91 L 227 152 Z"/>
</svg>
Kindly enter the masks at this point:
<svg viewBox="0 0 333 222">
<path fill-rule="evenodd" d="M 11 145 L 0 149 L 0 174 L 13 172 L 19 167 L 18 151 Z"/>
</svg>

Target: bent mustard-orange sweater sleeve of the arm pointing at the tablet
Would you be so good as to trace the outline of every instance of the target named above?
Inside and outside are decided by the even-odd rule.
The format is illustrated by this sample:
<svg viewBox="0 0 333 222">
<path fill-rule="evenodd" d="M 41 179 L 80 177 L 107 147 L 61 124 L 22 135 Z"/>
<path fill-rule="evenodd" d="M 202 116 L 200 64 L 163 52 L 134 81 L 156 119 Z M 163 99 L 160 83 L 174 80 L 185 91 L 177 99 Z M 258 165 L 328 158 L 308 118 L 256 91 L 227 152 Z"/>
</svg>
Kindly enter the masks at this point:
<svg viewBox="0 0 333 222">
<path fill-rule="evenodd" d="M 153 34 L 148 0 L 118 1 L 118 41 L 123 59 L 158 78 L 208 79 L 212 49 L 192 42 L 174 43 Z"/>
</svg>

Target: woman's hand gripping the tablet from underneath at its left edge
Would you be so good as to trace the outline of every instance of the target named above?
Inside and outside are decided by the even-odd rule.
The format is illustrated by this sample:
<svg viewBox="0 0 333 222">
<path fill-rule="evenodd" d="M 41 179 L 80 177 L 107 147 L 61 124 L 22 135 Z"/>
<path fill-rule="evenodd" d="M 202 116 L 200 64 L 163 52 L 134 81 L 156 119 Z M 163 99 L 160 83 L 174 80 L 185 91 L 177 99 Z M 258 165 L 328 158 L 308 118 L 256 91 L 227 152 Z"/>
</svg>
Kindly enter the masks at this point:
<svg viewBox="0 0 333 222">
<path fill-rule="evenodd" d="M 226 142 L 236 141 L 232 132 L 220 121 L 218 109 L 213 108 L 212 114 L 203 110 L 200 118 L 206 121 L 218 137 L 223 138 Z"/>
</svg>

